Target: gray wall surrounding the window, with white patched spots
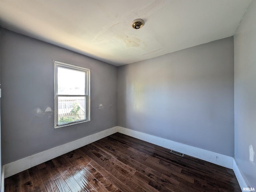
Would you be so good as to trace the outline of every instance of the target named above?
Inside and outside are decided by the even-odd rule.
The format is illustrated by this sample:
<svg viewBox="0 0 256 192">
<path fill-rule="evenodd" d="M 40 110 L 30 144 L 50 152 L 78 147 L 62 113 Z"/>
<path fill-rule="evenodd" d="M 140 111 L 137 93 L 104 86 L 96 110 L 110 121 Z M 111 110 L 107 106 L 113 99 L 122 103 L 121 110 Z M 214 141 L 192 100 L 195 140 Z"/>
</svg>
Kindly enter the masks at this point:
<svg viewBox="0 0 256 192">
<path fill-rule="evenodd" d="M 117 67 L 6 29 L 0 38 L 3 164 L 117 125 Z M 53 59 L 91 69 L 90 122 L 54 129 L 54 115 L 33 115 L 54 109 Z"/>
</svg>

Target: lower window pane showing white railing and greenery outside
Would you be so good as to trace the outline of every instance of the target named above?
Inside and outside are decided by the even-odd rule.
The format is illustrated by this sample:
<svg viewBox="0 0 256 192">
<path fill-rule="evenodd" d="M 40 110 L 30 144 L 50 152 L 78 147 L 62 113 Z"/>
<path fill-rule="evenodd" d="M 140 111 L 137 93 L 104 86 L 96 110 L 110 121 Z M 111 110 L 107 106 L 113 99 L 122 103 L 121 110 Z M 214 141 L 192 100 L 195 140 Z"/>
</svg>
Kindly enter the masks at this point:
<svg viewBox="0 0 256 192">
<path fill-rule="evenodd" d="M 86 120 L 86 98 L 58 97 L 58 125 L 79 120 Z"/>
</svg>

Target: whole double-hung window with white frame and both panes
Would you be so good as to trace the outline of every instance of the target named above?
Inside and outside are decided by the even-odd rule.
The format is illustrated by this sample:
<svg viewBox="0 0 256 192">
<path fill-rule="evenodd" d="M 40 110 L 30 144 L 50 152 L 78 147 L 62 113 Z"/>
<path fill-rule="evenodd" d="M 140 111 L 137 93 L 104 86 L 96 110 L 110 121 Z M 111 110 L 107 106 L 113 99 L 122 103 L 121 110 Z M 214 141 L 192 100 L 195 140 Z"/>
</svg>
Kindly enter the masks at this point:
<svg viewBox="0 0 256 192">
<path fill-rule="evenodd" d="M 55 128 L 90 121 L 90 69 L 54 61 Z"/>
</svg>

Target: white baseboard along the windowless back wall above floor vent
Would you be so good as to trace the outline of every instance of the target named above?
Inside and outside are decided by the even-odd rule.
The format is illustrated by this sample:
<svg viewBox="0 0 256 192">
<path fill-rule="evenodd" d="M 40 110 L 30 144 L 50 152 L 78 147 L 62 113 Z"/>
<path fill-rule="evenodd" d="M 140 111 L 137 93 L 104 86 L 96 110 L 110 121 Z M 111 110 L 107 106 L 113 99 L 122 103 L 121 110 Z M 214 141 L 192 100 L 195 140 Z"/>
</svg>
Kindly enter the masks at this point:
<svg viewBox="0 0 256 192">
<path fill-rule="evenodd" d="M 210 163 L 214 163 L 216 165 L 220 165 L 222 167 L 233 169 L 233 157 L 229 157 L 227 155 L 222 155 L 220 153 L 215 153 L 212 151 L 208 151 L 205 149 L 200 149 L 197 147 L 192 147 L 190 145 L 185 145 L 182 143 L 178 143 L 175 141 L 171 141 L 168 139 L 163 139 L 161 137 L 156 137 L 153 135 L 149 135 L 146 133 L 141 133 L 138 131 L 134 131 L 132 129 L 126 129 L 124 127 L 118 126 L 118 132 L 123 133 L 125 135 L 129 135 L 131 137 L 147 141 L 149 143 L 153 143 L 155 145 L 165 147 L 167 149 L 172 149 L 174 151 L 179 151 L 180 153 L 184 153 L 186 155 L 190 155 L 192 157 L 196 157 L 198 159 L 202 159 L 204 161 L 208 161 Z"/>
</svg>

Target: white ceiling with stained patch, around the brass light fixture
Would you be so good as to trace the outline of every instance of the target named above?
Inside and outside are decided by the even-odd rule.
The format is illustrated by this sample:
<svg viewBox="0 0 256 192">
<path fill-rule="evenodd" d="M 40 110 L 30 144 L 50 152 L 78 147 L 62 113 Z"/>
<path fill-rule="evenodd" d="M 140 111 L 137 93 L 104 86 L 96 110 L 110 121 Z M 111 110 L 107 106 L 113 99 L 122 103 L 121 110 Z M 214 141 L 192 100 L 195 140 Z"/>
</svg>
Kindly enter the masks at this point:
<svg viewBox="0 0 256 192">
<path fill-rule="evenodd" d="M 250 2 L 0 0 L 0 26 L 120 66 L 230 37 Z"/>
</svg>

